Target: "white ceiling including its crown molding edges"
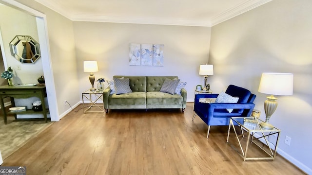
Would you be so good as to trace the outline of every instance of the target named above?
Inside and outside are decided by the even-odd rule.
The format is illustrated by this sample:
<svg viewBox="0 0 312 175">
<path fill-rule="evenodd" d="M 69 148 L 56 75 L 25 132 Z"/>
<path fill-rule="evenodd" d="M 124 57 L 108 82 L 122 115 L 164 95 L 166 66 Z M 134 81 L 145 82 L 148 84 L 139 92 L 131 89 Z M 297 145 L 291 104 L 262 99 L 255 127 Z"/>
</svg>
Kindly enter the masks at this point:
<svg viewBox="0 0 312 175">
<path fill-rule="evenodd" d="M 211 27 L 271 0 L 36 0 L 74 21 Z"/>
</svg>

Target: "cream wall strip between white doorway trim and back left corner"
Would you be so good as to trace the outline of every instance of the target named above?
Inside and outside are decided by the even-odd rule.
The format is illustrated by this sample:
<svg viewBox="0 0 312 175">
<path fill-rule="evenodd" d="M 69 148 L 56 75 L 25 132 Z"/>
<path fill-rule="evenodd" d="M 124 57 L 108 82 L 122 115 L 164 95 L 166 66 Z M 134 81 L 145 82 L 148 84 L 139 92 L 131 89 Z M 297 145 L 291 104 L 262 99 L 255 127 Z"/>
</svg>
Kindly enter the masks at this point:
<svg viewBox="0 0 312 175">
<path fill-rule="evenodd" d="M 64 105 L 64 101 L 75 105 L 80 101 L 81 96 L 78 88 L 73 22 L 35 0 L 16 1 L 46 15 L 45 22 L 50 48 L 48 54 L 51 56 L 49 61 L 52 65 L 59 117 L 63 117 L 71 110 L 69 105 Z M 45 79 L 45 81 L 51 80 Z"/>
</svg>

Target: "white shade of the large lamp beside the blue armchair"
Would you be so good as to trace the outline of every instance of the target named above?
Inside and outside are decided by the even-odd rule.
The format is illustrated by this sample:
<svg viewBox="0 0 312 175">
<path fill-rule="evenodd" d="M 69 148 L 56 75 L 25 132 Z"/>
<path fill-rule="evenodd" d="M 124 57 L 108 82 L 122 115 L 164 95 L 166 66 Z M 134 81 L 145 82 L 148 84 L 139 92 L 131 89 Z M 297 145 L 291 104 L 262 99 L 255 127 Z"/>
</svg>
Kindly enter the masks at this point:
<svg viewBox="0 0 312 175">
<path fill-rule="evenodd" d="M 270 95 L 292 95 L 292 73 L 262 73 L 258 91 Z"/>
</svg>

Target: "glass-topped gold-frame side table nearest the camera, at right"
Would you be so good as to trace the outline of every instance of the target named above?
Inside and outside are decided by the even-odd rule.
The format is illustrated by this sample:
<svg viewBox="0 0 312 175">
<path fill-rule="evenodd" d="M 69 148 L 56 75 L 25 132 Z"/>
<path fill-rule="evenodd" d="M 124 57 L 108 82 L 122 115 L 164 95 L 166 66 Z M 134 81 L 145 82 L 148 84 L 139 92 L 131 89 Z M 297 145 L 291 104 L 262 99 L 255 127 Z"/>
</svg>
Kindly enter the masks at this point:
<svg viewBox="0 0 312 175">
<path fill-rule="evenodd" d="M 226 142 L 229 143 L 239 153 L 241 157 L 243 157 L 244 161 L 245 160 L 274 160 L 274 157 L 276 156 L 277 144 L 278 144 L 278 139 L 279 139 L 281 130 L 277 129 L 276 127 L 274 127 L 273 129 L 261 128 L 259 123 L 262 123 L 262 122 L 263 122 L 262 120 L 258 118 L 254 118 L 254 117 L 231 117 L 230 118 L 229 130 L 228 130 L 228 136 L 227 136 Z M 241 135 L 237 134 L 235 125 L 238 125 L 240 127 L 240 130 L 242 133 Z M 231 128 L 233 129 L 235 133 L 234 140 L 237 140 L 235 144 L 236 147 L 234 143 L 231 144 L 231 142 L 229 142 Z M 244 131 L 245 133 L 247 132 L 248 134 L 244 135 Z M 245 136 L 247 136 L 247 140 Z M 274 139 L 274 141 L 269 141 L 269 136 L 273 136 L 272 138 Z M 259 154 L 258 151 L 255 151 L 252 154 L 250 154 L 252 155 L 252 157 L 247 157 L 247 154 L 249 153 L 247 151 L 250 149 L 250 146 L 252 144 L 255 145 L 257 148 L 259 148 L 261 151 L 263 151 L 264 154 Z M 237 147 L 239 148 L 237 149 Z M 257 153 L 257 155 L 255 153 Z M 266 157 L 264 157 L 263 155 L 266 155 Z"/>
</svg>

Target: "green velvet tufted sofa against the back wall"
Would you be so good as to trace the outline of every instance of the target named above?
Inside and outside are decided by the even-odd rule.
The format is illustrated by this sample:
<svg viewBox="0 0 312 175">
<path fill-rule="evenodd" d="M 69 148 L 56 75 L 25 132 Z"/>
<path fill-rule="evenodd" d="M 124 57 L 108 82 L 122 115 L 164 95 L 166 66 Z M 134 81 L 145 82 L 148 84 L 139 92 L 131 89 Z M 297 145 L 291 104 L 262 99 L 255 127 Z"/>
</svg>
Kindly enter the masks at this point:
<svg viewBox="0 0 312 175">
<path fill-rule="evenodd" d="M 175 79 L 177 76 L 122 76 L 114 78 L 129 78 L 131 93 L 111 94 L 111 88 L 103 91 L 103 101 L 106 113 L 109 109 L 163 109 L 186 107 L 187 91 L 182 88 L 181 95 L 159 92 L 166 78 Z"/>
</svg>

